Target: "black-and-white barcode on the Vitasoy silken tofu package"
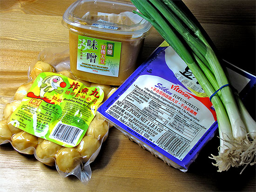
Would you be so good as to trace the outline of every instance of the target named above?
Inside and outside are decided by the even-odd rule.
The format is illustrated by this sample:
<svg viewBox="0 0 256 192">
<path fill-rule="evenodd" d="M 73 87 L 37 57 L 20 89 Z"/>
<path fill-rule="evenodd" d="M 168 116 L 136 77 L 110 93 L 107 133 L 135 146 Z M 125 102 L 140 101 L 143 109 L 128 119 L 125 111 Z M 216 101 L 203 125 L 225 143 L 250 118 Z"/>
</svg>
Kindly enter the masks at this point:
<svg viewBox="0 0 256 192">
<path fill-rule="evenodd" d="M 157 139 L 156 144 L 175 157 L 181 157 L 189 147 L 189 144 L 168 132 Z"/>
</svg>

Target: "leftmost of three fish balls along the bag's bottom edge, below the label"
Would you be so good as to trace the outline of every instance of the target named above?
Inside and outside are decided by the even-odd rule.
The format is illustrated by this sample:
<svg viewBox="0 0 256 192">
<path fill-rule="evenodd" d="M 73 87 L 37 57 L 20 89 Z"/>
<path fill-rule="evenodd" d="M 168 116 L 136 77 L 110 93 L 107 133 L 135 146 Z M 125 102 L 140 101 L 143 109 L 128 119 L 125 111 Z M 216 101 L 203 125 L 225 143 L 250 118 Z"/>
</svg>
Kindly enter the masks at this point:
<svg viewBox="0 0 256 192">
<path fill-rule="evenodd" d="M 36 136 L 31 135 L 28 132 L 21 131 L 19 133 L 16 133 L 15 135 L 13 135 L 12 144 L 15 149 L 22 151 L 22 150 L 27 149 L 28 147 L 36 148 L 36 146 L 38 144 L 38 140 L 37 140 Z M 33 154 L 34 149 L 29 148 L 29 149 L 23 151 L 22 153 Z"/>
</svg>

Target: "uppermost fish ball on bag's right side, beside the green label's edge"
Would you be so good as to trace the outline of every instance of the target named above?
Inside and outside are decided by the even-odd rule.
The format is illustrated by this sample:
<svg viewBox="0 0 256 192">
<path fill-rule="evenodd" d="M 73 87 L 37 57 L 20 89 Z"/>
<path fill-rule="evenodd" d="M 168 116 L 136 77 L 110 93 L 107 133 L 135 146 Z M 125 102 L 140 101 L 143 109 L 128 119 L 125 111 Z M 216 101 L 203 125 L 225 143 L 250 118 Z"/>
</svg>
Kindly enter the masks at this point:
<svg viewBox="0 0 256 192">
<path fill-rule="evenodd" d="M 97 119 L 96 117 L 92 120 L 88 127 L 86 135 L 91 135 L 94 138 L 100 140 L 108 132 L 108 124 L 103 119 Z"/>
</svg>

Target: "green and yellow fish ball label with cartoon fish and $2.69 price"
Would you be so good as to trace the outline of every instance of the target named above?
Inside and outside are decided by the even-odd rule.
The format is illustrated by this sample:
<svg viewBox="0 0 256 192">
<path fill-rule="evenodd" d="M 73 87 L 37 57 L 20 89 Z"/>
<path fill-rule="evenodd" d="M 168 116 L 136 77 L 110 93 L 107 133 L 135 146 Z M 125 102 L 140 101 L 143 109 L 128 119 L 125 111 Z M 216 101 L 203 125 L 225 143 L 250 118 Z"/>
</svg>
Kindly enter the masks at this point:
<svg viewBox="0 0 256 192">
<path fill-rule="evenodd" d="M 87 87 L 57 73 L 40 73 L 10 122 L 13 126 L 62 146 L 77 146 L 104 98 L 99 87 Z"/>
</svg>

